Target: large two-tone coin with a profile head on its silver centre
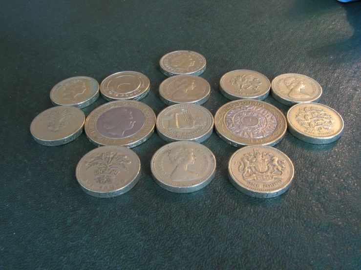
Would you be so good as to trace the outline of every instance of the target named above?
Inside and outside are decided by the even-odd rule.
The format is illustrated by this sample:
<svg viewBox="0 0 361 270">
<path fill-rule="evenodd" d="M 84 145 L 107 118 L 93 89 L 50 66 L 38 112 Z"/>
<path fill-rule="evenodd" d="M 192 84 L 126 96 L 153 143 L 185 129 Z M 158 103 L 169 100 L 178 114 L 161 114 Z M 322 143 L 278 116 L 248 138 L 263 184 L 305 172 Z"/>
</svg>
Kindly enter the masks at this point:
<svg viewBox="0 0 361 270">
<path fill-rule="evenodd" d="M 96 146 L 132 148 L 153 134 L 154 125 L 155 114 L 148 105 L 135 100 L 119 100 L 92 111 L 85 121 L 85 133 Z"/>
</svg>

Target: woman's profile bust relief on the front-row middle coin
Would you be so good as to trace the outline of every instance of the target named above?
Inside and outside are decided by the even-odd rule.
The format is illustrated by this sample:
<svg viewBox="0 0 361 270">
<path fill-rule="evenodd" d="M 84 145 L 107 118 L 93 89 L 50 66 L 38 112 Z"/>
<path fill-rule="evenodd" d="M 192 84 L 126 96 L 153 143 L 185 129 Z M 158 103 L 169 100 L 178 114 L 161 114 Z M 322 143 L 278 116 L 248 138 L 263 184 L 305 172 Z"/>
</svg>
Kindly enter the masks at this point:
<svg viewBox="0 0 361 270">
<path fill-rule="evenodd" d="M 170 164 L 175 167 L 170 174 L 173 181 L 187 181 L 200 178 L 196 173 L 189 170 L 188 166 L 194 164 L 196 157 L 190 147 L 178 146 L 170 150 Z"/>
</svg>

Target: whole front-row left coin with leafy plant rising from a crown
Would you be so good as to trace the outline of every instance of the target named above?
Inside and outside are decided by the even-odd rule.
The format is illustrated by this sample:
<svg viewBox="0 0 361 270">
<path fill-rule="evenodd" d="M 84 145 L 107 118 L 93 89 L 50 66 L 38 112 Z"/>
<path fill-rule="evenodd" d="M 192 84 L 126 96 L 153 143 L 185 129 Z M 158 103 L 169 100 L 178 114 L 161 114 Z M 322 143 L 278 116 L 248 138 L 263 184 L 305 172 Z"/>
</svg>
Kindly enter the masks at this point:
<svg viewBox="0 0 361 270">
<path fill-rule="evenodd" d="M 99 147 L 82 157 L 76 177 L 85 193 L 99 198 L 116 197 L 138 182 L 140 160 L 127 147 Z"/>
</svg>

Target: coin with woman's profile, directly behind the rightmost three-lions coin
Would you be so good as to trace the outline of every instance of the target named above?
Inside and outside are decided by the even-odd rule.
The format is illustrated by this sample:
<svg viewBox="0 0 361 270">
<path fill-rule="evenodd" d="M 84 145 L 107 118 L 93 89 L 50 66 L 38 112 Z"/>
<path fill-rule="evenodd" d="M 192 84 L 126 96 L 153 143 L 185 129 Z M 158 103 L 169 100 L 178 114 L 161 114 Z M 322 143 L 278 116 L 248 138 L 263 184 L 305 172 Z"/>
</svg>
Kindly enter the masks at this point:
<svg viewBox="0 0 361 270">
<path fill-rule="evenodd" d="M 319 102 L 322 95 L 322 88 L 316 80 L 300 74 L 279 75 L 272 80 L 271 87 L 272 96 L 287 106 Z"/>
</svg>

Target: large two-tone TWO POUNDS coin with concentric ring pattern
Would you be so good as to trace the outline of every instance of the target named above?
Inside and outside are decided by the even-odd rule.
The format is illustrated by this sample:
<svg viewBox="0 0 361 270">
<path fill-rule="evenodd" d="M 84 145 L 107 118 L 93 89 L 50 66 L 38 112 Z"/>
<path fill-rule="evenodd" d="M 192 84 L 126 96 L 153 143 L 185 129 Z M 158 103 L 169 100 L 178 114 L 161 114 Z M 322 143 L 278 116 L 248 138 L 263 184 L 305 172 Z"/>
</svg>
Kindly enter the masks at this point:
<svg viewBox="0 0 361 270">
<path fill-rule="evenodd" d="M 240 99 L 224 104 L 214 116 L 217 134 L 227 143 L 269 145 L 278 143 L 285 135 L 285 116 L 275 106 L 255 99 Z"/>
</svg>

